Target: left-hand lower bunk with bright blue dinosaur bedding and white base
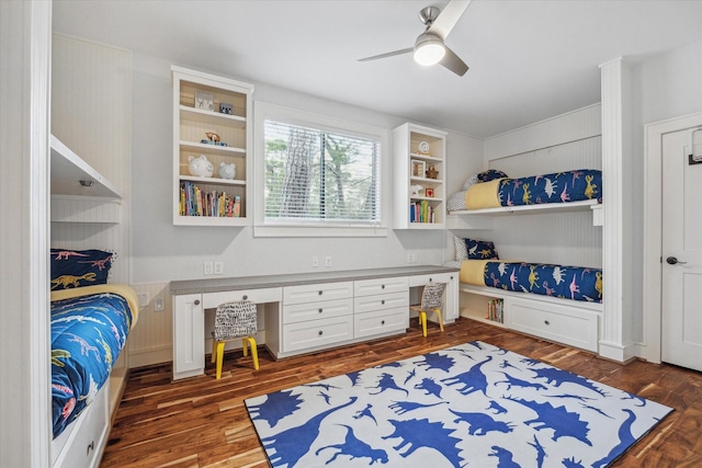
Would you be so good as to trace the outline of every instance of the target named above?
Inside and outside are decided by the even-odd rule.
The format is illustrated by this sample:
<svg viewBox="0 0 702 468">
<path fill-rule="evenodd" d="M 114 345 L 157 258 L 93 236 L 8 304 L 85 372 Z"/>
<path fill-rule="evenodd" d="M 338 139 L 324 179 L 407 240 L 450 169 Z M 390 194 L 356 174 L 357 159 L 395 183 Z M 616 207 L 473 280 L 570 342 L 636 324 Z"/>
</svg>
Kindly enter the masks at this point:
<svg viewBox="0 0 702 468">
<path fill-rule="evenodd" d="M 110 432 L 110 376 L 138 317 L 136 293 L 111 284 L 52 293 L 54 467 L 97 467 Z"/>
</svg>

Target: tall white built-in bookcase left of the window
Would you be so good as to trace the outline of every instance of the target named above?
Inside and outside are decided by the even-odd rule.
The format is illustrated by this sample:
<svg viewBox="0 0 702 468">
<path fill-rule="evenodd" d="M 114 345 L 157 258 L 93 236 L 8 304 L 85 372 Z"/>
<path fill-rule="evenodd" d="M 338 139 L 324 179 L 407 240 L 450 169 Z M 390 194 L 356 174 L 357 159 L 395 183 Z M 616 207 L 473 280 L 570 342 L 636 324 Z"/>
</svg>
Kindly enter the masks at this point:
<svg viewBox="0 0 702 468">
<path fill-rule="evenodd" d="M 173 77 L 173 225 L 177 226 L 248 226 L 252 206 L 251 180 L 251 94 L 253 85 L 182 67 L 171 67 Z M 202 94 L 211 99 L 196 100 Z M 229 104 L 231 114 L 220 112 Z M 214 133 L 218 145 L 207 137 Z M 212 176 L 190 173 L 190 157 L 204 155 L 214 165 Z M 234 163 L 234 179 L 223 179 L 220 164 Z M 185 195 L 197 192 L 215 194 L 227 204 L 216 213 L 188 210 Z M 189 195 L 190 197 L 190 195 Z M 229 202 L 231 201 L 231 202 Z M 236 203 L 236 209 L 234 204 Z M 195 206 L 197 202 L 194 202 Z"/>
</svg>

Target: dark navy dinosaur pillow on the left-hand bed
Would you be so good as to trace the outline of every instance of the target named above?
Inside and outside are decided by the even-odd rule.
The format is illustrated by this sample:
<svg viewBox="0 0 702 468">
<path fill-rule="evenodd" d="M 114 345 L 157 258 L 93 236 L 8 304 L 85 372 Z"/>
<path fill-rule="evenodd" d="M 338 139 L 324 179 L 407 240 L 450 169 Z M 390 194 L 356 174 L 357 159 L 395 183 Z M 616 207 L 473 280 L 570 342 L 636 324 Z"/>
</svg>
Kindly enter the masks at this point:
<svg viewBox="0 0 702 468">
<path fill-rule="evenodd" d="M 52 290 L 106 284 L 114 252 L 52 249 Z"/>
</svg>

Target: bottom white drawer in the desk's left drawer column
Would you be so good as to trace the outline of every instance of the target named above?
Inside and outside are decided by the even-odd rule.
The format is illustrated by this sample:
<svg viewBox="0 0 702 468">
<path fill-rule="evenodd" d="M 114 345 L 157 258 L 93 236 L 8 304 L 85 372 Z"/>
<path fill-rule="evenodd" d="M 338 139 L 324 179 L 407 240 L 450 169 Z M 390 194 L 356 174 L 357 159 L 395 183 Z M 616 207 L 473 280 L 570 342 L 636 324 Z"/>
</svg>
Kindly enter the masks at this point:
<svg viewBox="0 0 702 468">
<path fill-rule="evenodd" d="M 353 316 L 283 326 L 283 353 L 333 346 L 353 339 Z"/>
</svg>

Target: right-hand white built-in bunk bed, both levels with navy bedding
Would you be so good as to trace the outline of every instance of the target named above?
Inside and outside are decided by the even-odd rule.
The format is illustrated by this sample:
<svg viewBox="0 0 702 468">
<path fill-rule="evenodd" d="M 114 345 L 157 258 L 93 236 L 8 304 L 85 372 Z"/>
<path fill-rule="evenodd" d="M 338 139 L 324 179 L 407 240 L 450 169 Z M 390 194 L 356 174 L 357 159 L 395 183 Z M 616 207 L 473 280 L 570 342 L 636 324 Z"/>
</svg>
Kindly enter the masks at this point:
<svg viewBox="0 0 702 468">
<path fill-rule="evenodd" d="M 592 209 L 601 213 L 599 170 L 510 179 L 488 170 L 471 176 L 449 197 L 448 227 L 492 229 L 491 218 Z M 596 212 L 597 209 L 597 212 Z M 502 260 L 492 242 L 455 238 L 453 266 L 461 269 L 461 315 L 535 336 L 597 351 L 602 315 L 601 269 Z"/>
</svg>

